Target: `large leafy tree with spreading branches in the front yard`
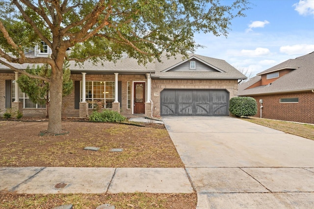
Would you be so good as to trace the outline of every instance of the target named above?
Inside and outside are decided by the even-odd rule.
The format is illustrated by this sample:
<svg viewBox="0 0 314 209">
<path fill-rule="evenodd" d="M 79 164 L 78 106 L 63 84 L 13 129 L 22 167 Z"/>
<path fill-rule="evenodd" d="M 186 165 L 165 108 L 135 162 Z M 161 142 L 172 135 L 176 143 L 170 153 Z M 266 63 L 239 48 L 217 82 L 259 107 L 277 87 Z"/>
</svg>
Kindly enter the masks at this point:
<svg viewBox="0 0 314 209">
<path fill-rule="evenodd" d="M 1 0 L 0 63 L 50 83 L 48 132 L 61 133 L 64 60 L 93 63 L 123 52 L 145 64 L 161 53 L 186 55 L 198 47 L 194 33 L 227 35 L 244 16 L 247 0 Z M 44 41 L 51 57 L 27 57 Z M 67 53 L 67 49 L 71 52 Z M 10 52 L 10 53 L 9 53 Z M 51 77 L 34 76 L 12 63 L 47 63 Z"/>
</svg>

